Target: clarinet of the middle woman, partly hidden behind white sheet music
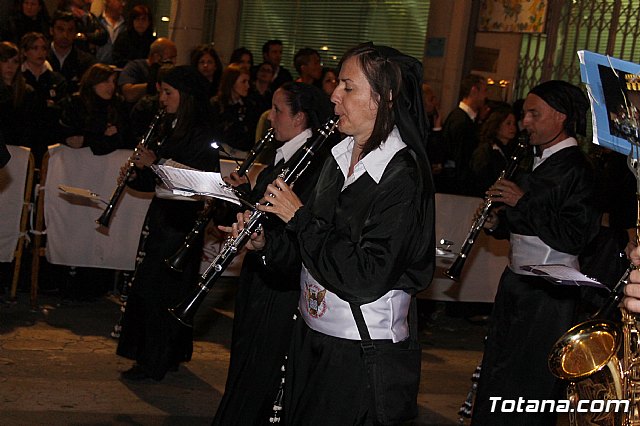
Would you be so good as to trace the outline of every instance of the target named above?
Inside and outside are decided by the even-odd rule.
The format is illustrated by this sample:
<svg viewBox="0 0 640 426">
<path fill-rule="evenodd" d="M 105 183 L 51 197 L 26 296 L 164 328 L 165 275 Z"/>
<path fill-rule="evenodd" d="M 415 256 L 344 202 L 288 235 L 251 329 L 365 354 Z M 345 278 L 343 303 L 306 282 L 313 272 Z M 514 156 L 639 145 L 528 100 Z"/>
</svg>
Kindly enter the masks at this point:
<svg viewBox="0 0 640 426">
<path fill-rule="evenodd" d="M 269 129 L 267 134 L 263 136 L 262 139 L 256 142 L 247 158 L 236 169 L 236 173 L 238 173 L 239 176 L 242 177 L 247 174 L 247 170 L 251 168 L 253 162 L 256 160 L 260 152 L 262 152 L 267 144 L 271 144 L 274 135 L 275 131 L 273 130 L 273 128 L 271 128 Z M 191 231 L 189 231 L 189 233 L 184 237 L 184 242 L 182 243 L 180 248 L 171 257 L 165 260 L 165 262 L 171 269 L 182 272 L 185 260 L 187 259 L 188 254 L 191 251 L 191 247 L 195 245 L 200 235 L 202 235 L 202 233 L 204 232 L 204 229 L 207 227 L 207 224 L 215 213 L 215 207 L 216 204 L 213 202 L 213 200 L 211 200 L 196 219 L 193 228 L 191 228 Z"/>
</svg>

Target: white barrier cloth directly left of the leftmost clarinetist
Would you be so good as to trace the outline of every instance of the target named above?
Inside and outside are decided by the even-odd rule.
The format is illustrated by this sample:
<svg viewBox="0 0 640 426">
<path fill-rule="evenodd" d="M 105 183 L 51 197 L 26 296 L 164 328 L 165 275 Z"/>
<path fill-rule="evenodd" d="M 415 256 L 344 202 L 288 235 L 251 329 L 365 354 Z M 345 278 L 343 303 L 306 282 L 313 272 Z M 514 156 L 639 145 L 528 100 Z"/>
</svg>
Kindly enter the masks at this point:
<svg viewBox="0 0 640 426">
<path fill-rule="evenodd" d="M 104 203 L 59 189 L 60 185 L 86 188 L 108 200 L 131 151 L 98 156 L 89 148 L 55 145 L 49 148 L 49 155 L 44 199 L 47 260 L 59 265 L 133 270 L 140 230 L 154 194 L 127 188 L 107 229 L 95 223 Z"/>
</svg>

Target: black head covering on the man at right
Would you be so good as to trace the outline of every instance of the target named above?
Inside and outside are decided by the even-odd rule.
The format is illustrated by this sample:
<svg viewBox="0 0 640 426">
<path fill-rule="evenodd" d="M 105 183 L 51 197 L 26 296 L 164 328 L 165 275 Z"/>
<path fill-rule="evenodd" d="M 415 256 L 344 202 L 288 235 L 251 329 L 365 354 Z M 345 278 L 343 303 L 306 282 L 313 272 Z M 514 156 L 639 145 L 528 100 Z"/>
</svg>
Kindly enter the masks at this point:
<svg viewBox="0 0 640 426">
<path fill-rule="evenodd" d="M 564 129 L 570 136 L 587 134 L 589 99 L 580 88 L 562 80 L 537 85 L 529 93 L 539 96 L 551 108 L 567 116 Z"/>
</svg>

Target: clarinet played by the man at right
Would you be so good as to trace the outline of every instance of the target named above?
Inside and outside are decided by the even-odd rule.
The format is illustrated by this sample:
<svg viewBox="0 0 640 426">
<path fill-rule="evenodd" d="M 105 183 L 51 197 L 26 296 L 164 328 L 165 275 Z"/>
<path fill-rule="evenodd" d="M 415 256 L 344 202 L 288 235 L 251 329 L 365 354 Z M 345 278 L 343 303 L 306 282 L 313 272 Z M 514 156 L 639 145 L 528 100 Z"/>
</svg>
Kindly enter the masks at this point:
<svg viewBox="0 0 640 426">
<path fill-rule="evenodd" d="M 527 133 L 523 133 L 518 138 L 518 145 L 513 150 L 513 154 L 509 157 L 509 163 L 507 167 L 500 173 L 500 179 L 511 179 L 515 171 L 518 169 L 518 164 L 522 157 L 524 157 L 527 152 L 527 148 L 529 146 L 529 136 Z M 484 199 L 484 205 L 482 206 L 482 210 L 480 215 L 473 221 L 471 225 L 471 229 L 467 234 L 467 237 L 464 239 L 462 246 L 460 247 L 460 252 L 458 256 L 453 261 L 449 269 L 444 271 L 444 275 L 451 278 L 454 281 L 457 281 L 460 278 L 460 274 L 462 273 L 462 268 L 464 268 L 464 264 L 467 261 L 467 257 L 469 256 L 469 252 L 473 248 L 473 244 L 476 242 L 476 238 L 478 238 L 478 234 L 482 230 L 485 222 L 489 218 L 489 212 L 493 207 L 493 200 L 491 197 L 487 196 Z"/>
</svg>

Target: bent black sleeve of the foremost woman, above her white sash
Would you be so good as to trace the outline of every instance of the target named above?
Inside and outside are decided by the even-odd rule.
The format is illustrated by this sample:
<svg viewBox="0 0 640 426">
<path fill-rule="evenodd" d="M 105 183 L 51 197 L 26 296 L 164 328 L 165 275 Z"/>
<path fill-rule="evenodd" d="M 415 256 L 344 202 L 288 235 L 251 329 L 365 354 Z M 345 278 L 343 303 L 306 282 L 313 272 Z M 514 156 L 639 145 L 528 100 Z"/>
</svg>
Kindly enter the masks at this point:
<svg viewBox="0 0 640 426">
<path fill-rule="evenodd" d="M 419 223 L 417 212 L 427 194 L 419 189 L 416 173 L 406 167 L 388 171 L 366 216 L 356 218 L 358 224 L 333 223 L 304 206 L 287 225 L 314 278 L 348 302 L 373 302 L 399 288 L 402 275 L 417 261 L 416 241 L 433 240 Z M 356 239 L 349 228 L 360 225 Z"/>
</svg>

